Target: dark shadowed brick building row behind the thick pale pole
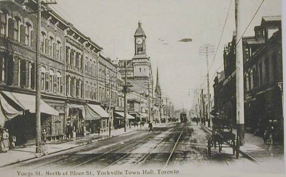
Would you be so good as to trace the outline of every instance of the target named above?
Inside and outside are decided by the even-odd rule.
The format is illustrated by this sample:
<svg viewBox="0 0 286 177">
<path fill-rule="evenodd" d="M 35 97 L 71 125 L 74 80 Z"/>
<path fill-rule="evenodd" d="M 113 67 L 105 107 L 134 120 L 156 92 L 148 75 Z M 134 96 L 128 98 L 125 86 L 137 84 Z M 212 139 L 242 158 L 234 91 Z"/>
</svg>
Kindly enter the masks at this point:
<svg viewBox="0 0 286 177">
<path fill-rule="evenodd" d="M 242 37 L 245 130 L 261 135 L 273 126 L 274 141 L 283 140 L 281 17 L 262 17 L 255 35 Z M 235 125 L 235 34 L 224 48 L 225 79 L 215 78 L 215 109 Z M 221 98 L 220 101 L 217 101 Z"/>
</svg>

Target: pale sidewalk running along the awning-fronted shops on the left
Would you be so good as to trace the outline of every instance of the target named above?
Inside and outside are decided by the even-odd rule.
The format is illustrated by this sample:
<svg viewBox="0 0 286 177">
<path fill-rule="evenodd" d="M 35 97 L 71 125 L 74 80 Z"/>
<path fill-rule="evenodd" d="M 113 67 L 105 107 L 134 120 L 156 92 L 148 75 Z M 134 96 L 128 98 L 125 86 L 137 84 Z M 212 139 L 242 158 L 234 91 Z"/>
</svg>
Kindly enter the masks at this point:
<svg viewBox="0 0 286 177">
<path fill-rule="evenodd" d="M 159 124 L 155 124 L 154 126 L 158 126 Z M 145 124 L 144 127 L 142 128 L 148 128 L 148 125 Z M 131 128 L 126 128 L 126 132 L 124 132 L 124 128 L 120 128 L 117 130 L 112 130 L 111 131 L 111 137 L 114 136 L 119 136 L 125 133 L 130 133 L 136 130 L 140 130 L 140 126 L 136 126 L 136 128 L 131 127 Z M 98 136 L 98 134 L 91 134 L 89 136 L 85 137 L 78 137 L 78 138 L 72 138 L 72 139 L 67 139 L 67 140 L 57 140 L 57 141 L 48 141 L 47 142 L 47 147 L 49 154 L 53 154 L 56 152 L 68 150 L 71 148 L 75 148 L 78 146 L 84 146 L 86 144 L 90 144 L 96 141 L 104 140 L 110 138 L 109 137 L 109 131 L 103 132 Z M 6 153 L 0 153 L 0 167 L 7 166 L 10 164 L 14 164 L 17 162 L 23 162 L 26 160 L 30 160 L 35 158 L 34 155 L 34 149 L 35 149 L 35 144 L 29 144 L 27 146 L 19 146 L 14 149 L 11 149 L 7 151 Z"/>
</svg>

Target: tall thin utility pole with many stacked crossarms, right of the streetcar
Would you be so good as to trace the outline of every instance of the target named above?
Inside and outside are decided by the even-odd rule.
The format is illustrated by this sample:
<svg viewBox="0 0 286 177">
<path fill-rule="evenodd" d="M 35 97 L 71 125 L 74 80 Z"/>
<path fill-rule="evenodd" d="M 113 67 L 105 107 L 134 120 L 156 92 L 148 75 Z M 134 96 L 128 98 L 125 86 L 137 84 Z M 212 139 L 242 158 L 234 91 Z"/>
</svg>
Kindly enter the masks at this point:
<svg viewBox="0 0 286 177">
<path fill-rule="evenodd" d="M 209 71 L 208 71 L 208 55 L 209 53 L 213 53 L 213 46 L 211 45 L 204 45 L 203 47 L 201 47 L 201 49 L 203 51 L 201 51 L 200 53 L 204 53 L 206 54 L 206 69 L 207 69 L 207 74 L 206 74 L 206 79 L 207 79 L 207 87 L 208 87 L 208 93 L 207 93 L 207 101 L 208 101 L 208 107 L 207 107 L 207 113 L 208 113 L 208 127 L 211 126 L 211 117 L 210 117 L 210 83 L 209 83 Z"/>
</svg>

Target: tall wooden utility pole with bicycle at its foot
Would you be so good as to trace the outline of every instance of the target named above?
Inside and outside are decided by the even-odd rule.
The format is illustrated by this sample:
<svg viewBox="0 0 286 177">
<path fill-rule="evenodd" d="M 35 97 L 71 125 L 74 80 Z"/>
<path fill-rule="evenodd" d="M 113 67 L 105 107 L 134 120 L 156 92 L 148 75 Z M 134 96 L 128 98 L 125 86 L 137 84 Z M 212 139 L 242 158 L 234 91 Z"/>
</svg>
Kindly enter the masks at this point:
<svg viewBox="0 0 286 177">
<path fill-rule="evenodd" d="M 41 0 L 37 1 L 37 32 L 36 32 L 36 152 L 41 144 Z"/>
</svg>

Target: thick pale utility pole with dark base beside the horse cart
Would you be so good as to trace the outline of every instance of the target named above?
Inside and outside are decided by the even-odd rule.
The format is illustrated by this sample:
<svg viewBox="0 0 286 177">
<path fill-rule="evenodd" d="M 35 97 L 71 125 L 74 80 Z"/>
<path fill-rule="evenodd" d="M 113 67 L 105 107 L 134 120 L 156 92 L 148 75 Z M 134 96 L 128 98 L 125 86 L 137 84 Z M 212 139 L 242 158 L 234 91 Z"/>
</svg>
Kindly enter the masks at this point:
<svg viewBox="0 0 286 177">
<path fill-rule="evenodd" d="M 244 144 L 244 96 L 243 96 L 243 54 L 242 40 L 243 28 L 241 25 L 243 7 L 239 0 L 235 0 L 235 27 L 236 27 L 236 124 L 237 136 L 240 138 L 240 144 Z"/>
</svg>

